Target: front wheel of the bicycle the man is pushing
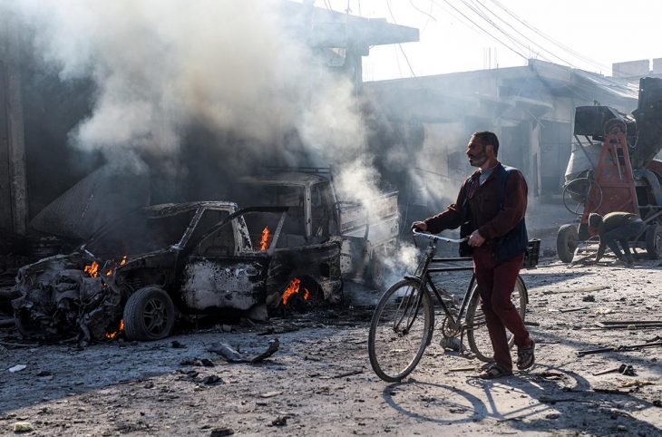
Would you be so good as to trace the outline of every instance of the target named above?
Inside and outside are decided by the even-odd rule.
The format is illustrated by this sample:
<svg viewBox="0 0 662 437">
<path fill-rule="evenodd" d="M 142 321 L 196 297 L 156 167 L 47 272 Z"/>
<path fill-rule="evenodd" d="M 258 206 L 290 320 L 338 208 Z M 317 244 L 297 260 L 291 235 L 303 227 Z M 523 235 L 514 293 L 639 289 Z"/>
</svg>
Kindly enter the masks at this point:
<svg viewBox="0 0 662 437">
<path fill-rule="evenodd" d="M 434 312 L 430 292 L 404 279 L 379 299 L 370 323 L 368 355 L 375 374 L 396 383 L 411 374 L 429 344 Z"/>
</svg>

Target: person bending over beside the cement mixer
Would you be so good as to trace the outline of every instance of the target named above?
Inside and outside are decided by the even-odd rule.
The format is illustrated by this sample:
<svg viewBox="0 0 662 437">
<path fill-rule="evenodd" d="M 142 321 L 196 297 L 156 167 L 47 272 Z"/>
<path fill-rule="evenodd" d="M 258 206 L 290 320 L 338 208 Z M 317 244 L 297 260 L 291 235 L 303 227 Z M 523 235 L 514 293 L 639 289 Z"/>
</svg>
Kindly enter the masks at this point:
<svg viewBox="0 0 662 437">
<path fill-rule="evenodd" d="M 610 212 L 604 218 L 596 213 L 590 214 L 589 232 L 592 235 L 598 234 L 600 238 L 596 262 L 605 254 L 605 247 L 608 246 L 618 257 L 617 262 L 633 264 L 635 260 L 630 252 L 628 240 L 637 238 L 645 228 L 644 220 L 631 212 Z M 623 247 L 623 252 L 618 248 L 618 242 Z"/>
</svg>

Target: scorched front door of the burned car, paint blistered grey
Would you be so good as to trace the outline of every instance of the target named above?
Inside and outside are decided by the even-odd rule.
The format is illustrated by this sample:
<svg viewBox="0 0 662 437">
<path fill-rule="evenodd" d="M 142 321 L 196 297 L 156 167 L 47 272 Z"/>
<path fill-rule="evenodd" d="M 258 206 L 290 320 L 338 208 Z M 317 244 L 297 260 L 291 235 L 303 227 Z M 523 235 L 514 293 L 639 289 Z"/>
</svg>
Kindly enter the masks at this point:
<svg viewBox="0 0 662 437">
<path fill-rule="evenodd" d="M 264 302 L 267 253 L 252 253 L 243 217 L 205 210 L 190 238 L 181 276 L 182 303 L 191 313 L 248 310 Z"/>
</svg>

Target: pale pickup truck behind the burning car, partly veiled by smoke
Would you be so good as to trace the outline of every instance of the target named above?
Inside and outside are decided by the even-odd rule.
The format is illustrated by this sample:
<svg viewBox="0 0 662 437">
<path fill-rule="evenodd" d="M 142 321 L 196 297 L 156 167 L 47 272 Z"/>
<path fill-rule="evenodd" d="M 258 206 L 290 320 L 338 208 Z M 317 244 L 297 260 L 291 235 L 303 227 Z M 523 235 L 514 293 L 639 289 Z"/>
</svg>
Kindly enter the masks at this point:
<svg viewBox="0 0 662 437">
<path fill-rule="evenodd" d="M 289 207 L 287 238 L 303 245 L 339 241 L 343 277 L 379 286 L 384 259 L 397 245 L 397 191 L 369 207 L 338 199 L 331 171 L 323 167 L 267 169 L 241 180 L 255 204 Z"/>
</svg>

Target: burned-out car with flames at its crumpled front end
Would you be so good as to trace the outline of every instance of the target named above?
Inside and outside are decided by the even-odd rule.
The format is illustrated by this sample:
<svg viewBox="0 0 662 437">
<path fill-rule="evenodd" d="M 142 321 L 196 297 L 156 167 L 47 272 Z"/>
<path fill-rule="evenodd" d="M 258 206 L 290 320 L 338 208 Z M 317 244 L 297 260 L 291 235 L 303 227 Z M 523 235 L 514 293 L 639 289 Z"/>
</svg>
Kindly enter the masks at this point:
<svg viewBox="0 0 662 437">
<path fill-rule="evenodd" d="M 129 339 L 155 340 L 170 335 L 176 317 L 265 318 L 268 296 L 272 305 L 293 295 L 337 302 L 339 244 L 287 247 L 286 218 L 287 207 L 238 210 L 221 201 L 127 214 L 72 254 L 22 267 L 16 325 L 25 336 L 75 332 L 83 343 L 121 329 Z"/>
</svg>

